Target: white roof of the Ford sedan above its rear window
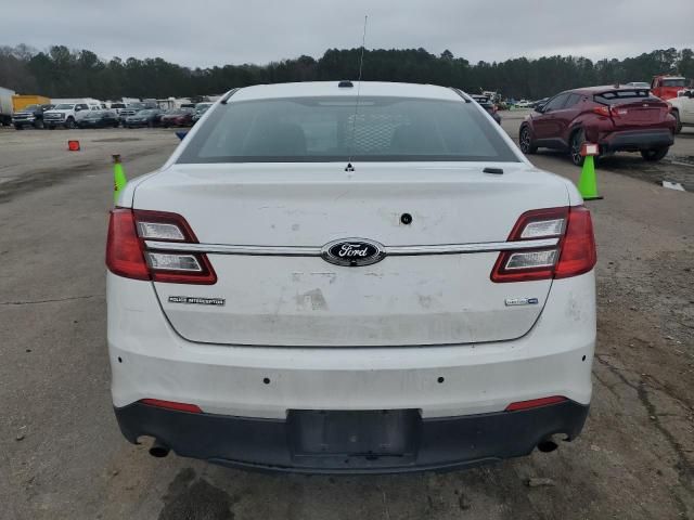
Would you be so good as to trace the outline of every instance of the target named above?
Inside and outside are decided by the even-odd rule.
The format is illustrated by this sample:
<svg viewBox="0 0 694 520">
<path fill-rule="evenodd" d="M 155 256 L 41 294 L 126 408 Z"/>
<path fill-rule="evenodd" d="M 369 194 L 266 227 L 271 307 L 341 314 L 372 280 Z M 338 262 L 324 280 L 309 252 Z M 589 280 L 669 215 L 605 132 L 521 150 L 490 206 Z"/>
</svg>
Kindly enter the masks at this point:
<svg viewBox="0 0 694 520">
<path fill-rule="evenodd" d="M 453 90 L 434 84 L 396 83 L 388 81 L 352 81 L 352 87 L 338 87 L 339 81 L 304 81 L 244 87 L 229 100 L 250 101 L 278 98 L 362 96 L 421 98 L 432 100 L 458 100 Z"/>
</svg>

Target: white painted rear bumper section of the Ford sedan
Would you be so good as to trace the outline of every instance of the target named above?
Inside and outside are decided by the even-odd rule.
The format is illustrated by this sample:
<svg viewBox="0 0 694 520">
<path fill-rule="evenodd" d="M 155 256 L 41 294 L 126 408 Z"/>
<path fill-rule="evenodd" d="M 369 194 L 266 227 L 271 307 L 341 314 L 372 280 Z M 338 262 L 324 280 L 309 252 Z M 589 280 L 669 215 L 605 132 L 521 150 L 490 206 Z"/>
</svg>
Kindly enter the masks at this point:
<svg viewBox="0 0 694 520">
<path fill-rule="evenodd" d="M 593 272 L 554 281 L 532 329 L 513 341 L 438 347 L 283 348 L 193 343 L 164 317 L 150 282 L 107 275 L 114 406 L 142 399 L 207 414 L 284 420 L 291 410 L 417 410 L 424 419 L 564 395 L 589 404 Z"/>
</svg>

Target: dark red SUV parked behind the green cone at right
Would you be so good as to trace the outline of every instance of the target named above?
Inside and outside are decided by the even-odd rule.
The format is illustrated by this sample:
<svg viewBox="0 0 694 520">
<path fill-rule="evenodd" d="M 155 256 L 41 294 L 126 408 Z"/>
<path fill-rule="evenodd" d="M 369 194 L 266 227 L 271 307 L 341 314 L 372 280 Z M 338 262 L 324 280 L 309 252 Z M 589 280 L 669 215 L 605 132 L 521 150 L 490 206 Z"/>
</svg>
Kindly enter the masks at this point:
<svg viewBox="0 0 694 520">
<path fill-rule="evenodd" d="M 674 142 L 670 105 L 648 89 L 589 87 L 567 90 L 535 109 L 520 125 L 520 150 L 539 147 L 569 152 L 581 166 L 583 142 L 597 143 L 601 155 L 641 152 L 645 160 L 660 160 Z"/>
</svg>

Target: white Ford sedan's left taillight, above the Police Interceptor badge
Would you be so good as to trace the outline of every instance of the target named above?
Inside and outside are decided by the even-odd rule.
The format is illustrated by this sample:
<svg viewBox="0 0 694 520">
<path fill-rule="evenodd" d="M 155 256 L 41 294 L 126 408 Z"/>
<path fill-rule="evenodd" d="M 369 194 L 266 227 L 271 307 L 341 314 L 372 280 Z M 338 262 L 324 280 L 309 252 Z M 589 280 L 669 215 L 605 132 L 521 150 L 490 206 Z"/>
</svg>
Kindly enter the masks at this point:
<svg viewBox="0 0 694 520">
<path fill-rule="evenodd" d="M 119 276 L 172 284 L 211 285 L 217 275 L 198 252 L 157 251 L 146 240 L 196 244 L 195 234 L 180 214 L 116 208 L 111 212 L 106 266 Z"/>
</svg>

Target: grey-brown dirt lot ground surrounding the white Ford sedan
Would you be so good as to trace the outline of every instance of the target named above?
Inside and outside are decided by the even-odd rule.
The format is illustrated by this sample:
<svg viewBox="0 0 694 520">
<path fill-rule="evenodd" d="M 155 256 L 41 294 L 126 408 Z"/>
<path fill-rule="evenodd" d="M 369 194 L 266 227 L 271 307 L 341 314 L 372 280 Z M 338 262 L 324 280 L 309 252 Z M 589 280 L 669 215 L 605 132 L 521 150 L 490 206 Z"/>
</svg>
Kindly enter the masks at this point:
<svg viewBox="0 0 694 520">
<path fill-rule="evenodd" d="M 520 114 L 504 116 L 515 136 Z M 83 151 L 68 153 L 68 136 Z M 0 518 L 694 519 L 694 193 L 656 184 L 692 186 L 694 168 L 618 156 L 599 171 L 599 343 L 576 442 L 441 474 L 274 476 L 151 458 L 113 417 L 108 159 L 123 154 L 133 177 L 177 141 L 0 129 Z M 694 157 L 692 130 L 672 154 Z M 532 160 L 578 179 L 557 154 Z"/>
</svg>

